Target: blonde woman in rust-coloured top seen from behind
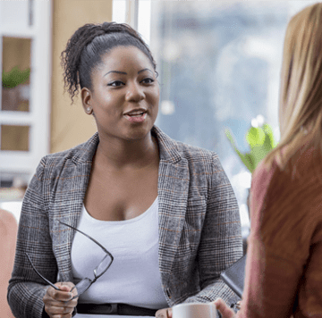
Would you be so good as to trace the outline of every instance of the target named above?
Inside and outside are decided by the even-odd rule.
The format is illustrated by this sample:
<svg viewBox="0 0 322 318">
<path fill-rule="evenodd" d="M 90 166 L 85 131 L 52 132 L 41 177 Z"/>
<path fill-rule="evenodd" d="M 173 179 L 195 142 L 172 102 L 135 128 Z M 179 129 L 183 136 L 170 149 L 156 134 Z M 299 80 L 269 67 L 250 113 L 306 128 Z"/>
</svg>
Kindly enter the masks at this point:
<svg viewBox="0 0 322 318">
<path fill-rule="evenodd" d="M 284 41 L 281 143 L 253 175 L 238 317 L 322 317 L 322 4 Z M 225 318 L 233 311 L 216 301 Z"/>
</svg>

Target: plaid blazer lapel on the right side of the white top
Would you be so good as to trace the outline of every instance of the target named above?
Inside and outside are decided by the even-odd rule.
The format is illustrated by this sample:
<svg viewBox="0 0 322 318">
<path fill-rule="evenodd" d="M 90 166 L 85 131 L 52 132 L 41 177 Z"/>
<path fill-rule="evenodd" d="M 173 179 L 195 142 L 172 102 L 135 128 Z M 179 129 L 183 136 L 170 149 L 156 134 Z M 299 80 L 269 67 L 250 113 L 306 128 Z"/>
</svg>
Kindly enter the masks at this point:
<svg viewBox="0 0 322 318">
<path fill-rule="evenodd" d="M 155 127 L 160 151 L 158 172 L 159 268 L 168 285 L 187 210 L 190 175 L 188 162 L 171 138 Z"/>
</svg>

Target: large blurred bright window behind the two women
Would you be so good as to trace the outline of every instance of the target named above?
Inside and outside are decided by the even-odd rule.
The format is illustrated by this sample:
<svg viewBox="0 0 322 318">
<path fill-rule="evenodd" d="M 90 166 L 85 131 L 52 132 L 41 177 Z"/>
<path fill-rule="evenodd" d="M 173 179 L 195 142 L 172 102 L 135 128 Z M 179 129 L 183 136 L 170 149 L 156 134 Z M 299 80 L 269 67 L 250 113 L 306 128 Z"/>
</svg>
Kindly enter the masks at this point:
<svg viewBox="0 0 322 318">
<path fill-rule="evenodd" d="M 150 13 L 140 7 L 151 5 Z M 225 128 L 249 151 L 245 133 L 259 114 L 278 139 L 284 32 L 292 14 L 315 1 L 146 1 L 161 99 L 157 125 L 170 137 L 216 151 L 248 226 L 250 173 Z M 140 27 L 139 23 L 139 27 Z M 254 122 L 254 121 L 253 121 Z"/>
</svg>

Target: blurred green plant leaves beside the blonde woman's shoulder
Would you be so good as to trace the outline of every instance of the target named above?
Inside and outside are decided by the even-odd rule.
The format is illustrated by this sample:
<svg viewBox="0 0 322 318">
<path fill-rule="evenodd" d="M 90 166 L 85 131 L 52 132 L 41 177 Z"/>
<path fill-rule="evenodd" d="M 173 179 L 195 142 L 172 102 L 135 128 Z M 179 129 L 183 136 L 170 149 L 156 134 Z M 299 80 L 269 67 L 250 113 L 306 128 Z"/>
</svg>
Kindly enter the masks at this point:
<svg viewBox="0 0 322 318">
<path fill-rule="evenodd" d="M 247 131 L 246 141 L 250 146 L 249 153 L 242 154 L 237 149 L 233 134 L 229 129 L 225 130 L 225 135 L 231 142 L 233 150 L 239 155 L 242 163 L 245 164 L 250 172 L 253 172 L 258 163 L 277 145 L 273 130 L 268 124 L 264 124 L 262 127 L 250 127 Z"/>
</svg>

